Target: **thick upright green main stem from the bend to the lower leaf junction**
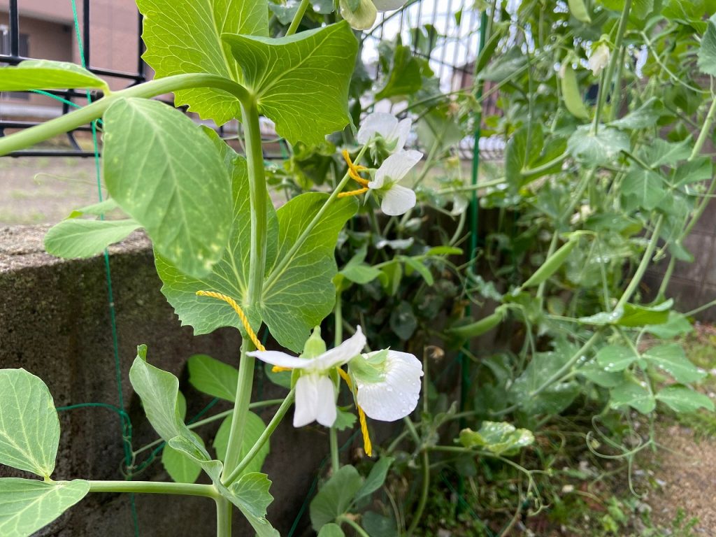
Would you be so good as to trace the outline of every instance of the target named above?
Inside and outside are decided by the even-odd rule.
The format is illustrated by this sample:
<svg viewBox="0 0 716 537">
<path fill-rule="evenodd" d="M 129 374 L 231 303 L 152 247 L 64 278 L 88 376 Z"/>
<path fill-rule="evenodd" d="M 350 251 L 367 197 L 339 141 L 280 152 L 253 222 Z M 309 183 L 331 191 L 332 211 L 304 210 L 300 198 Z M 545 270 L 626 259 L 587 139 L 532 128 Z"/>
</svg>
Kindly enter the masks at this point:
<svg viewBox="0 0 716 537">
<path fill-rule="evenodd" d="M 258 127 L 258 107 L 256 101 L 242 103 L 243 125 L 246 129 L 246 163 L 248 165 L 248 197 L 251 203 L 251 257 L 248 264 L 248 286 L 246 304 L 249 311 L 258 306 L 261 299 L 263 270 L 266 266 L 266 226 L 268 213 L 266 203 L 266 180 L 263 172 L 263 152 L 261 150 L 261 131 Z M 257 327 L 258 328 L 258 327 Z M 246 428 L 248 405 L 251 403 L 253 388 L 253 369 L 256 359 L 246 353 L 253 350 L 253 343 L 248 337 L 241 343 L 241 361 L 238 365 L 238 382 L 236 399 L 231 418 L 231 432 L 228 437 L 228 450 L 224 461 L 222 478 L 233 473 L 241 455 L 243 433 Z"/>
</svg>

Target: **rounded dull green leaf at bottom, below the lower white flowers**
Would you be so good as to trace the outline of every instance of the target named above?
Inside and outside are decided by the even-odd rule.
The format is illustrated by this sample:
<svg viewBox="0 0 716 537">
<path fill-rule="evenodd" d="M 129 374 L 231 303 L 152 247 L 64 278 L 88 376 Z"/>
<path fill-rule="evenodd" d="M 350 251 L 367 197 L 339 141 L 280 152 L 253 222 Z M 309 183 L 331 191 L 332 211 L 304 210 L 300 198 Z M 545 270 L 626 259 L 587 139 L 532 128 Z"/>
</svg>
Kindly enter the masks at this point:
<svg viewBox="0 0 716 537">
<path fill-rule="evenodd" d="M 362 484 L 363 478 L 351 465 L 339 468 L 311 500 L 311 525 L 314 530 L 320 531 L 324 525 L 345 513 Z"/>
</svg>

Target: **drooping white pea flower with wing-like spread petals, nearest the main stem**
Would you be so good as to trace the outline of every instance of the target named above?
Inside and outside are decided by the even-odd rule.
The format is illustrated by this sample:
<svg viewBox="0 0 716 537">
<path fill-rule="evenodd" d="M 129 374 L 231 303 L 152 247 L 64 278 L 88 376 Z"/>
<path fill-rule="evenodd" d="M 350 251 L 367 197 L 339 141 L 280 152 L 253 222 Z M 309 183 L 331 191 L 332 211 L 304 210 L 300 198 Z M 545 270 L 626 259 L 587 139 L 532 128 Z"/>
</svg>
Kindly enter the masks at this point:
<svg viewBox="0 0 716 537">
<path fill-rule="evenodd" d="M 365 346 L 365 336 L 360 326 L 356 333 L 329 351 L 325 350 L 325 344 L 318 335 L 320 331 L 315 330 L 309 338 L 309 342 L 322 346 L 322 352 L 314 357 L 305 357 L 306 352 L 295 357 L 279 351 L 254 351 L 248 352 L 248 356 L 260 359 L 262 362 L 287 369 L 298 369 L 300 377 L 296 381 L 296 409 L 294 410 L 294 427 L 303 427 L 313 421 L 319 422 L 326 427 L 332 427 L 336 421 L 336 387 L 330 377 L 334 367 L 342 366 L 356 357 Z M 309 347 L 306 343 L 306 349 Z M 316 348 L 316 347 L 314 347 Z"/>
</svg>

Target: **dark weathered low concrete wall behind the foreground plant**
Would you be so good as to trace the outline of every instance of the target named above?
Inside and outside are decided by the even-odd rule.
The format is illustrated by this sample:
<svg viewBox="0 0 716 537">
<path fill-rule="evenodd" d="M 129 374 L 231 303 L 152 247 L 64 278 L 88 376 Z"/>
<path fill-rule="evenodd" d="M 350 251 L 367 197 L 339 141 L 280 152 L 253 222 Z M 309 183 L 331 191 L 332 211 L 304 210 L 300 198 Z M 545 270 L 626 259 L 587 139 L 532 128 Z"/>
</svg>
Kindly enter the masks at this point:
<svg viewBox="0 0 716 537">
<path fill-rule="evenodd" d="M 44 253 L 46 227 L 0 228 L 0 367 L 24 367 L 49 386 L 57 407 L 84 402 L 117 405 L 115 357 L 107 302 L 105 261 L 102 256 L 85 261 L 62 261 Z M 233 329 L 195 337 L 181 327 L 160 294 L 147 239 L 132 235 L 110 250 L 110 267 L 125 407 L 132 418 L 135 449 L 155 440 L 145 422 L 140 402 L 133 395 L 128 371 L 137 344 L 149 346 L 149 360 L 176 374 L 194 415 L 209 398 L 186 382 L 185 362 L 191 354 L 205 353 L 236 364 L 239 337 Z M 260 369 L 260 368 L 259 368 Z M 258 382 L 263 393 L 254 400 L 281 397 L 285 393 L 268 381 Z M 226 410 L 222 403 L 215 410 Z M 214 410 L 212 410 L 213 412 Z M 273 408 L 263 412 L 268 421 Z M 55 479 L 122 479 L 120 420 L 103 408 L 60 412 L 62 440 Z M 213 430 L 216 430 L 214 427 Z M 211 439 L 211 426 L 202 432 Z M 276 501 L 269 519 L 281 535 L 288 533 L 296 513 L 309 493 L 319 463 L 327 451 L 325 432 L 294 430 L 291 416 L 277 430 L 265 470 L 274 480 Z M 137 456 L 140 463 L 147 452 Z M 21 475 L 6 467 L 0 475 Z M 150 466 L 138 479 L 166 480 L 162 465 Z M 178 496 L 137 495 L 140 535 L 213 536 L 215 511 L 211 500 Z M 304 516 L 304 523 L 306 517 Z M 234 516 L 236 536 L 253 531 Z M 48 536 L 134 536 L 129 497 L 90 494 L 57 523 L 40 533 Z"/>
</svg>

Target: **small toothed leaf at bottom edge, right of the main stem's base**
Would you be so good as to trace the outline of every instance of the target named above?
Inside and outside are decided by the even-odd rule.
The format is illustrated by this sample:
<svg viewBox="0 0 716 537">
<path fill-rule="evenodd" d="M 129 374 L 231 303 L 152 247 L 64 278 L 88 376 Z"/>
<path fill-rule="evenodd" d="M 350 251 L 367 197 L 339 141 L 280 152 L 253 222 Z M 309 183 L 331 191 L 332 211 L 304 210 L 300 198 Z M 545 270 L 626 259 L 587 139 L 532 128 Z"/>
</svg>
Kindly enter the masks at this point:
<svg viewBox="0 0 716 537">
<path fill-rule="evenodd" d="M 228 488 L 223 485 L 218 488 L 243 513 L 258 537 L 280 537 L 266 520 L 266 508 L 274 501 L 270 487 L 271 481 L 266 474 L 253 472 L 242 475 Z"/>
</svg>

